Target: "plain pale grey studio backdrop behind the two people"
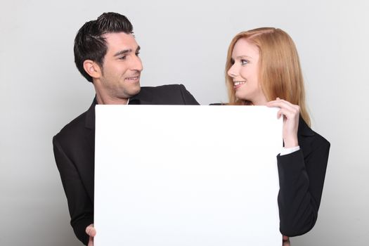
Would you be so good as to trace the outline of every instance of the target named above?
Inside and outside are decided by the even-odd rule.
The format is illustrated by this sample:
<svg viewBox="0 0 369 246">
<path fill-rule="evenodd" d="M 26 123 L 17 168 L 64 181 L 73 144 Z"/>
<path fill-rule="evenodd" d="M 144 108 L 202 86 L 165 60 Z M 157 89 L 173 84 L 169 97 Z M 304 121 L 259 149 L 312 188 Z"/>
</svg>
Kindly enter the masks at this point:
<svg viewBox="0 0 369 246">
<path fill-rule="evenodd" d="M 318 222 L 293 245 L 367 245 L 369 2 L 1 1 L 0 245 L 81 245 L 53 157 L 53 135 L 84 112 L 93 86 L 74 64 L 79 27 L 127 15 L 143 86 L 182 83 L 201 104 L 226 102 L 233 36 L 280 27 L 294 39 L 313 129 L 331 143 Z M 364 127 L 365 126 L 365 127 Z M 242 129 L 242 122 L 235 127 Z"/>
</svg>

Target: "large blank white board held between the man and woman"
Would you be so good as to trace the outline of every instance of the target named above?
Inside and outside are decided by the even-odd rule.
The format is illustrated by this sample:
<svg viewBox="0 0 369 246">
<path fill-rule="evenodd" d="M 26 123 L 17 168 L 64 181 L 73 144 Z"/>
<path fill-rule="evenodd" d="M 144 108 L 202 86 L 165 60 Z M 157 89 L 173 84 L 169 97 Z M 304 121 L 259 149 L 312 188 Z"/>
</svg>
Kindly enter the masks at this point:
<svg viewBox="0 0 369 246">
<path fill-rule="evenodd" d="M 277 111 L 97 105 L 95 245 L 281 245 Z"/>
</svg>

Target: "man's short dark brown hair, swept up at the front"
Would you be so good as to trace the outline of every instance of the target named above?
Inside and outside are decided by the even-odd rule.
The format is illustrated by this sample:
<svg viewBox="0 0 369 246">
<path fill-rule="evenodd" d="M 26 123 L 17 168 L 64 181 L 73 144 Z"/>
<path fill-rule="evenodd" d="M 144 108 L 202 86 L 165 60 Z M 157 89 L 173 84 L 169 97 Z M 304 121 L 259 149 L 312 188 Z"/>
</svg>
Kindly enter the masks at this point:
<svg viewBox="0 0 369 246">
<path fill-rule="evenodd" d="M 103 34 L 112 32 L 133 33 L 134 27 L 131 22 L 119 13 L 103 13 L 97 20 L 84 23 L 75 38 L 75 63 L 81 74 L 92 82 L 92 77 L 84 70 L 84 60 L 93 60 L 103 67 L 106 46 Z"/>
</svg>

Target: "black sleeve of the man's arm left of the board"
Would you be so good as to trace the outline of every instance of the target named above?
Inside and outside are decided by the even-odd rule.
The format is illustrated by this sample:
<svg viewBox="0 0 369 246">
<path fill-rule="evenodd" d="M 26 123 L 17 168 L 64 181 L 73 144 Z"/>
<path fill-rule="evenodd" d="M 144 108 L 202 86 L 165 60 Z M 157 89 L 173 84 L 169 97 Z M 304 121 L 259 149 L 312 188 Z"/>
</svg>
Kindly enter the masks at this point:
<svg viewBox="0 0 369 246">
<path fill-rule="evenodd" d="M 93 202 L 86 193 L 75 164 L 65 155 L 55 136 L 53 137 L 53 151 L 67 196 L 70 224 L 77 238 L 87 245 L 89 236 L 85 230 L 87 226 L 93 224 Z"/>
</svg>

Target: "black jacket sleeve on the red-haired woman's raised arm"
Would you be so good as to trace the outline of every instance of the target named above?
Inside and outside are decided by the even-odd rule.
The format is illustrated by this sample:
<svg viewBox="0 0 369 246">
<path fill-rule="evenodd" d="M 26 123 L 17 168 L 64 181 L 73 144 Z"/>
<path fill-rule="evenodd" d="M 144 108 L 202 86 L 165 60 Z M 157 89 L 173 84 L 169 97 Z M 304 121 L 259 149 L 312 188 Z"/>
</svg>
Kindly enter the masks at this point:
<svg viewBox="0 0 369 246">
<path fill-rule="evenodd" d="M 325 141 L 304 157 L 302 150 L 278 155 L 280 233 L 307 233 L 318 218 L 330 143 Z"/>
</svg>

